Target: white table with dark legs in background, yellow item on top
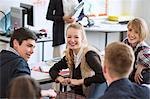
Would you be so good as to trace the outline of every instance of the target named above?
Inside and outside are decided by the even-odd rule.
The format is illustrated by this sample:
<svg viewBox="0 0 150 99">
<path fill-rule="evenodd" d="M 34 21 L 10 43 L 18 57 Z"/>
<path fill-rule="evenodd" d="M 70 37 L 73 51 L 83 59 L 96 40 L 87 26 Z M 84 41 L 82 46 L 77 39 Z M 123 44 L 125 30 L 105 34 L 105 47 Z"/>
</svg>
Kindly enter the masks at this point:
<svg viewBox="0 0 150 99">
<path fill-rule="evenodd" d="M 108 42 L 108 33 L 120 33 L 120 41 L 123 40 L 123 33 L 127 32 L 127 24 L 121 25 L 121 24 L 108 24 L 108 23 L 102 23 L 98 26 L 92 26 L 85 28 L 86 31 L 97 31 L 100 33 L 105 33 L 105 47 Z"/>
</svg>

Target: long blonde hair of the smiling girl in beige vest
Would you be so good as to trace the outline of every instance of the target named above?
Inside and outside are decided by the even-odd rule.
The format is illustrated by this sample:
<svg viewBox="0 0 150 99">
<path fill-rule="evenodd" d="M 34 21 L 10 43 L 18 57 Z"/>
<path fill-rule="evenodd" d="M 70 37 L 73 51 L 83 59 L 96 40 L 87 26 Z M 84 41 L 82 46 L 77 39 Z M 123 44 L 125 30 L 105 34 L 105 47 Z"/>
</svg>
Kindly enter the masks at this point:
<svg viewBox="0 0 150 99">
<path fill-rule="evenodd" d="M 87 37 L 86 37 L 86 33 L 84 30 L 84 27 L 76 22 L 76 23 L 72 23 L 70 25 L 68 25 L 67 29 L 66 29 L 66 35 L 67 35 L 67 31 L 70 28 L 74 28 L 74 29 L 78 29 L 80 30 L 80 33 L 82 34 L 82 45 L 81 48 L 84 48 L 88 45 L 88 41 L 87 41 Z M 66 46 L 66 50 L 65 50 L 65 56 L 66 56 L 66 60 L 67 60 L 67 64 L 68 66 L 73 66 L 74 65 L 74 56 L 73 56 L 73 50 L 69 49 L 68 46 Z"/>
</svg>

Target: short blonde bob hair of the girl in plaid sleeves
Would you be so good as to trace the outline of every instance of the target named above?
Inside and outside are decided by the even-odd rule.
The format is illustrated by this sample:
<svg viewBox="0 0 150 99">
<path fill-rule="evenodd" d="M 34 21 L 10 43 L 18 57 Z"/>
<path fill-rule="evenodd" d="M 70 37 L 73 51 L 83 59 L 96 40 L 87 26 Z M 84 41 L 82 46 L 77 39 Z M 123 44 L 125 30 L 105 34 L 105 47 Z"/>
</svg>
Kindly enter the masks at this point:
<svg viewBox="0 0 150 99">
<path fill-rule="evenodd" d="M 148 36 L 149 30 L 148 26 L 144 19 L 142 18 L 134 18 L 133 20 L 129 21 L 128 28 L 132 27 L 135 31 L 139 33 L 140 41 L 143 41 Z"/>
</svg>

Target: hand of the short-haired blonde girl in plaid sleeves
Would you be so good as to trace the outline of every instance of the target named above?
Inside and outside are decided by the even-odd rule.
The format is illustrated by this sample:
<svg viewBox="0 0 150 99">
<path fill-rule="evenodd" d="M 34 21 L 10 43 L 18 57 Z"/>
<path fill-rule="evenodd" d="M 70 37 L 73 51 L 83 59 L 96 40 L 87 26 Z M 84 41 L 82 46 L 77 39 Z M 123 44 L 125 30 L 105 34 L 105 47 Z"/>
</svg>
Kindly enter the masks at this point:
<svg viewBox="0 0 150 99">
<path fill-rule="evenodd" d="M 143 76 L 141 73 L 144 68 L 145 67 L 143 65 L 139 65 L 139 64 L 137 65 L 137 70 L 135 72 L 134 80 L 138 84 L 140 84 L 143 81 Z"/>
</svg>

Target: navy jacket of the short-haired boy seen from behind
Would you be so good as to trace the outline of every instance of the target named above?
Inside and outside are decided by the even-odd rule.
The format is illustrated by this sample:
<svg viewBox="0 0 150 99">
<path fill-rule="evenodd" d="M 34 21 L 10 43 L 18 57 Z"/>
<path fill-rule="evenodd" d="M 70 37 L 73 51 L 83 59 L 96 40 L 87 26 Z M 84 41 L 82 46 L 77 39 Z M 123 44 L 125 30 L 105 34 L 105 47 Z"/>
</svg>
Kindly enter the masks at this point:
<svg viewBox="0 0 150 99">
<path fill-rule="evenodd" d="M 150 99 L 150 89 L 125 78 L 112 82 L 99 99 Z"/>
</svg>

